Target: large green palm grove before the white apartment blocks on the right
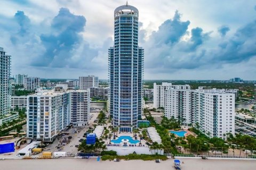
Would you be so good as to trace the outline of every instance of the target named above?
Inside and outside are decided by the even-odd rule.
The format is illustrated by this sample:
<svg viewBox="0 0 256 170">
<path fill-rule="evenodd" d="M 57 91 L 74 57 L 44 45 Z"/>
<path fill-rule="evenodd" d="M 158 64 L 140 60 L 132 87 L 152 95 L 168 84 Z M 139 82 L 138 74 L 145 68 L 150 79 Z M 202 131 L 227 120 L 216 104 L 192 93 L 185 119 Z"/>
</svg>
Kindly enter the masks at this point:
<svg viewBox="0 0 256 170">
<path fill-rule="evenodd" d="M 236 137 L 233 137 L 231 133 L 223 134 L 224 139 L 222 138 L 209 138 L 205 134 L 199 131 L 199 124 L 196 124 L 194 128 L 191 128 L 191 131 L 196 132 L 197 137 L 193 135 L 188 135 L 185 138 L 175 137 L 174 134 L 169 133 L 168 129 L 177 129 L 180 128 L 180 121 L 176 120 L 174 117 L 170 119 L 163 116 L 161 124 L 157 124 L 154 118 L 149 113 L 149 116 L 146 116 L 147 120 L 150 121 L 152 126 L 155 126 L 158 134 L 160 135 L 163 143 L 163 149 L 165 153 L 178 154 L 178 146 L 187 148 L 191 151 L 194 151 L 198 154 L 201 151 L 221 150 L 222 152 L 227 152 L 229 145 L 231 148 L 235 149 L 235 146 L 239 146 L 240 155 L 242 150 L 250 150 L 251 154 L 253 150 L 256 150 L 256 139 L 250 137 L 249 135 L 238 134 Z M 210 134 L 208 134 L 210 136 Z M 225 142 L 225 137 L 227 136 L 227 142 Z M 233 144 L 233 145 L 232 145 Z M 247 153 L 247 152 L 246 152 Z"/>
</svg>

